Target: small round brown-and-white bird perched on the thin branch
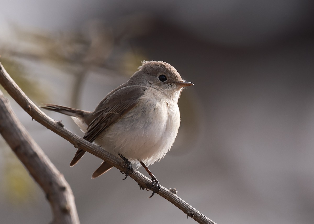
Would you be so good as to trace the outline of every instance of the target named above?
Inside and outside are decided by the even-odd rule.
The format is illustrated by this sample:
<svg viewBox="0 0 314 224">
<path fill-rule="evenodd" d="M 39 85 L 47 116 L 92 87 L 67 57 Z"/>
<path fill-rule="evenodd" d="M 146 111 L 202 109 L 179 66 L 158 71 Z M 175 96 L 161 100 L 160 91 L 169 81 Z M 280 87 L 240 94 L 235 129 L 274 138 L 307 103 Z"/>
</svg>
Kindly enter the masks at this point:
<svg viewBox="0 0 314 224">
<path fill-rule="evenodd" d="M 44 104 L 41 108 L 71 116 L 84 132 L 83 139 L 121 157 L 129 174 L 133 172 L 132 163 L 142 165 L 153 181 L 152 197 L 160 184 L 147 167 L 160 161 L 173 145 L 180 126 L 177 102 L 182 89 L 191 85 L 170 64 L 143 61 L 138 71 L 108 93 L 94 111 L 57 104 Z M 78 163 L 84 153 L 78 149 L 70 166 Z M 111 168 L 109 163 L 102 162 L 92 178 Z"/>
</svg>

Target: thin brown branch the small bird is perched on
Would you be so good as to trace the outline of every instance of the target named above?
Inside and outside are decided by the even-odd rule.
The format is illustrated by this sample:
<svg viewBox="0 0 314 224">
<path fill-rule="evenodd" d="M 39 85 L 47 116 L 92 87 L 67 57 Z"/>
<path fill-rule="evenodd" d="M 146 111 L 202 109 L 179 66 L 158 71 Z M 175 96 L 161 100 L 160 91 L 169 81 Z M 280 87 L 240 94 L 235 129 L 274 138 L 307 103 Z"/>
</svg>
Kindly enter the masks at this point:
<svg viewBox="0 0 314 224">
<path fill-rule="evenodd" d="M 16 85 L 12 78 L 3 68 L 0 63 L 0 84 L 7 90 L 11 97 L 36 121 L 55 132 L 57 135 L 69 141 L 76 148 L 81 148 L 86 152 L 89 152 L 100 159 L 106 161 L 112 166 L 118 168 L 122 172 L 126 172 L 127 168 L 124 167 L 122 159 L 110 154 L 109 152 L 103 150 L 102 148 L 78 137 L 77 135 L 70 132 L 68 129 L 64 128 L 60 121 L 55 121 L 44 114 Z M 142 173 L 134 169 L 133 173 L 129 175 L 134 179 L 140 186 L 148 187 L 152 185 L 152 181 L 145 177 Z M 175 190 L 166 189 L 160 186 L 160 191 L 157 193 L 166 200 L 170 201 L 172 204 L 177 206 L 181 211 L 183 211 L 187 216 L 198 223 L 215 224 L 215 222 L 208 219 L 202 213 L 197 211 L 191 205 L 187 204 L 180 197 L 175 195 L 173 192 Z"/>
</svg>

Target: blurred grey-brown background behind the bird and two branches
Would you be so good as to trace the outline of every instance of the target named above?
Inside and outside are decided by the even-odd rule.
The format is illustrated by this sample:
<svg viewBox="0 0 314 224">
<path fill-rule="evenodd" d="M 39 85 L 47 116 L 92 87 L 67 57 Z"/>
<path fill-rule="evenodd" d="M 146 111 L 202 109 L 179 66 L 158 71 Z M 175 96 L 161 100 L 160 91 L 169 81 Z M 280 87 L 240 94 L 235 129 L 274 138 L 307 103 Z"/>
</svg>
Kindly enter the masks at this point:
<svg viewBox="0 0 314 224">
<path fill-rule="evenodd" d="M 37 105 L 93 110 L 143 60 L 165 61 L 194 86 L 181 127 L 150 170 L 217 223 L 313 223 L 313 2 L 3 0 L 1 62 Z M 72 187 L 81 223 L 195 223 L 32 121 L 31 136 Z M 65 115 L 45 111 L 83 136 Z M 0 222 L 49 223 L 44 193 L 0 140 Z M 139 171 L 146 175 L 143 168 Z"/>
</svg>

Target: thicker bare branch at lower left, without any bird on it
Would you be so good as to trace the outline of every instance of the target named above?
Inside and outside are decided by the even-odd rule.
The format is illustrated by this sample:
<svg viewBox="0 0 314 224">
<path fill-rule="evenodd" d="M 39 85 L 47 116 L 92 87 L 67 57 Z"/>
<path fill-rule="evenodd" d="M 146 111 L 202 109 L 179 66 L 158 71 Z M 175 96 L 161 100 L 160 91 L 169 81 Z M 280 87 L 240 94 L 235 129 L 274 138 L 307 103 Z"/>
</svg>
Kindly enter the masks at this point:
<svg viewBox="0 0 314 224">
<path fill-rule="evenodd" d="M 46 193 L 55 224 L 79 224 L 74 196 L 64 176 L 29 135 L 0 91 L 0 133 Z"/>
</svg>

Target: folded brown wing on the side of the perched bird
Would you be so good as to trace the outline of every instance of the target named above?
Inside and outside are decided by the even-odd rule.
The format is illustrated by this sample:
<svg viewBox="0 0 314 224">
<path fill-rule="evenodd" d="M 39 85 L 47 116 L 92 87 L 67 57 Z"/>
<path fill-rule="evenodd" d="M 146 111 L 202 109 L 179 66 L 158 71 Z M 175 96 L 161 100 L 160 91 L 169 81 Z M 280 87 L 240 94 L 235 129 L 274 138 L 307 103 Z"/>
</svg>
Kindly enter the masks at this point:
<svg viewBox="0 0 314 224">
<path fill-rule="evenodd" d="M 83 139 L 93 142 L 102 131 L 129 112 L 145 90 L 146 88 L 142 86 L 126 86 L 109 93 L 95 108 L 93 112 L 95 119 L 87 127 Z M 78 149 L 70 166 L 74 166 L 84 153 L 83 149 Z"/>
</svg>

